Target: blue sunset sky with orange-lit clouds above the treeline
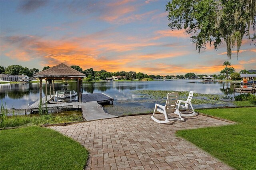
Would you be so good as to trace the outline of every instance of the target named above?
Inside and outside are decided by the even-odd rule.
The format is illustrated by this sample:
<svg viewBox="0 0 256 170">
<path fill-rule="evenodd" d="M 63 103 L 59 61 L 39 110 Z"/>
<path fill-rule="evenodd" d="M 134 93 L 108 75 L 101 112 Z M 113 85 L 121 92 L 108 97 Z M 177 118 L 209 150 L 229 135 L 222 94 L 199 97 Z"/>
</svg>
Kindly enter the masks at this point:
<svg viewBox="0 0 256 170">
<path fill-rule="evenodd" d="M 167 2 L 0 1 L 0 65 L 65 63 L 148 75 L 219 74 L 224 61 L 237 72 L 256 69 L 256 47 L 246 38 L 238 58 L 233 49 L 228 60 L 226 44 L 198 54 L 190 35 L 168 28 Z"/>
</svg>

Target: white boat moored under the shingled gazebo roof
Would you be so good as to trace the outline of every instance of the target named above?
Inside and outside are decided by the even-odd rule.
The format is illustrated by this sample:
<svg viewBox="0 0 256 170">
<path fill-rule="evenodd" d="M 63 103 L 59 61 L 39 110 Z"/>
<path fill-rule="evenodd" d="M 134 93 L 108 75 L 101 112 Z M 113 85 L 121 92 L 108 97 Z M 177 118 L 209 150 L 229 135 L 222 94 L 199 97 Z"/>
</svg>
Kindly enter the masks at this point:
<svg viewBox="0 0 256 170">
<path fill-rule="evenodd" d="M 71 92 L 71 93 L 70 93 Z M 74 101 L 76 99 L 77 96 L 77 92 L 74 90 L 58 90 L 56 91 L 56 94 L 54 95 L 54 97 L 56 98 L 56 100 L 59 102 L 68 102 L 70 101 Z"/>
</svg>

